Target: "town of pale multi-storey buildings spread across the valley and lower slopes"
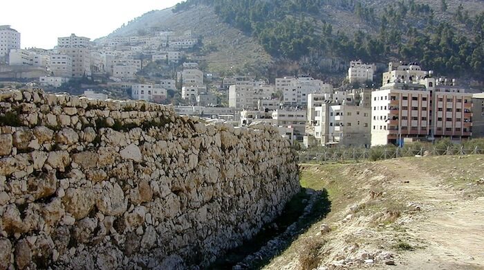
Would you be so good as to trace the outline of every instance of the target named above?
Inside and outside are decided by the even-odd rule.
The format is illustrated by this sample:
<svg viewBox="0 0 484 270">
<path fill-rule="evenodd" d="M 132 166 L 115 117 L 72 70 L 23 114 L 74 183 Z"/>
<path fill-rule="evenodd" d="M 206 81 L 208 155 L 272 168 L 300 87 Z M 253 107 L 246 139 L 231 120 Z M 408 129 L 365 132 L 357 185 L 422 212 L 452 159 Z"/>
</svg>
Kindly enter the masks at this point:
<svg viewBox="0 0 484 270">
<path fill-rule="evenodd" d="M 0 26 L 2 80 L 51 92 L 70 85 L 101 100 L 120 98 L 112 96 L 118 91 L 133 100 L 174 104 L 179 115 L 235 127 L 270 123 L 304 147 L 402 146 L 484 136 L 484 93 L 434 76 L 416 62 L 389 62 L 377 78 L 375 64 L 351 61 L 339 87 L 310 75 L 275 78 L 272 84 L 251 75 L 221 77 L 203 70 L 194 53 L 201 41 L 191 31 L 95 42 L 72 34 L 59 37 L 50 50 L 22 49 L 20 40 L 17 30 Z"/>
</svg>

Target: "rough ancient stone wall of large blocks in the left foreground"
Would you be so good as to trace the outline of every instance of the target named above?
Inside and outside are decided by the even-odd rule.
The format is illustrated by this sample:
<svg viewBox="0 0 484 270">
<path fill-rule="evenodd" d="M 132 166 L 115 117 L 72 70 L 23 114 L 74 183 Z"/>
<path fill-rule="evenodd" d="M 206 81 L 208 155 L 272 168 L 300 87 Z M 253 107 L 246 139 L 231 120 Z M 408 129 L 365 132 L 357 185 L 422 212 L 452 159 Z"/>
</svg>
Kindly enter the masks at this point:
<svg viewBox="0 0 484 270">
<path fill-rule="evenodd" d="M 203 267 L 299 191 L 272 127 L 8 91 L 0 129 L 0 269 Z"/>
</svg>

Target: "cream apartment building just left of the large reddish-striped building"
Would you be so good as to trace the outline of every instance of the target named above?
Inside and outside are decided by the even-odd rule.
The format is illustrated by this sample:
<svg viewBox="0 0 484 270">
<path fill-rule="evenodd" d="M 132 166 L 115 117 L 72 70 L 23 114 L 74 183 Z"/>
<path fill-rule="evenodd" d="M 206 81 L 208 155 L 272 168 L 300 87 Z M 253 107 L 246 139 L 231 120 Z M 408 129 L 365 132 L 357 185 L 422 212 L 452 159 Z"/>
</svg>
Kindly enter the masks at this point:
<svg viewBox="0 0 484 270">
<path fill-rule="evenodd" d="M 355 102 L 315 107 L 314 136 L 321 145 L 369 147 L 371 109 Z"/>
</svg>

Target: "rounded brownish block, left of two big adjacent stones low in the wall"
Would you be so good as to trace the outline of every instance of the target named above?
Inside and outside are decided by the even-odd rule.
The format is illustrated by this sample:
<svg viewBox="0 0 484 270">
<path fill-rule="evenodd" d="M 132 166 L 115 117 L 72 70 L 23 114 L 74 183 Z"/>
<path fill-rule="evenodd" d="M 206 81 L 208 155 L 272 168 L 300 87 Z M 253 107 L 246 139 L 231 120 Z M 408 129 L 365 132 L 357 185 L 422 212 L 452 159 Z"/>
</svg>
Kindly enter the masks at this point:
<svg viewBox="0 0 484 270">
<path fill-rule="evenodd" d="M 93 191 L 88 188 L 68 188 L 62 204 L 75 219 L 82 219 L 95 204 Z"/>
</svg>

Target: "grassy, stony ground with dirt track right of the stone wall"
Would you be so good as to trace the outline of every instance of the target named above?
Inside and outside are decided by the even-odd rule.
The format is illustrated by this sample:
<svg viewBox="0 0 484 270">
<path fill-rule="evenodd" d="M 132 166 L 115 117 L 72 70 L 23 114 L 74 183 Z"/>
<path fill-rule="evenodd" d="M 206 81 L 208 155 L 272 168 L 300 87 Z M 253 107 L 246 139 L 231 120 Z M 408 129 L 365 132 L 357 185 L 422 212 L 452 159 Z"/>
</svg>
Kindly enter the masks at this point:
<svg viewBox="0 0 484 270">
<path fill-rule="evenodd" d="M 301 165 L 331 213 L 265 269 L 483 269 L 483 175 L 482 155 Z"/>
</svg>

